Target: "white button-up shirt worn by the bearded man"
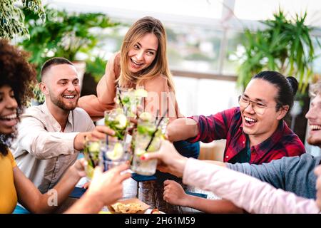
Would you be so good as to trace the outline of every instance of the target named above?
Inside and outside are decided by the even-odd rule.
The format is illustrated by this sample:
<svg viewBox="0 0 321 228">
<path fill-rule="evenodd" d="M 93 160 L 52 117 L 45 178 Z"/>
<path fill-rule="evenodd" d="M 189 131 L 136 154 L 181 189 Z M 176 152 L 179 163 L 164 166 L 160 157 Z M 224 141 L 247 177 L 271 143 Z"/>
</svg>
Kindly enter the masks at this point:
<svg viewBox="0 0 321 228">
<path fill-rule="evenodd" d="M 63 132 L 46 103 L 27 108 L 21 115 L 18 137 L 12 146 L 16 163 L 41 192 L 47 192 L 76 161 L 78 151 L 73 148 L 76 135 L 93 128 L 93 121 L 81 108 L 70 111 Z"/>
</svg>

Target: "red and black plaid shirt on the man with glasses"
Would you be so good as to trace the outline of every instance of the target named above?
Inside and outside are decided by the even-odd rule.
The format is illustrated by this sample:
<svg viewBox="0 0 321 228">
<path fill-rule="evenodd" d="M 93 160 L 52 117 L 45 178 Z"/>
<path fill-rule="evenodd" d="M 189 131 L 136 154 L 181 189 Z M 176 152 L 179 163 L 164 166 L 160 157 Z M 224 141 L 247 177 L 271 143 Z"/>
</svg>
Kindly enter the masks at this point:
<svg viewBox="0 0 321 228">
<path fill-rule="evenodd" d="M 199 133 L 190 142 L 212 142 L 226 139 L 224 162 L 228 162 L 235 155 L 245 149 L 246 135 L 243 133 L 240 108 L 230 108 L 215 115 L 195 115 Z M 262 164 L 277 160 L 281 157 L 291 157 L 305 153 L 305 147 L 295 133 L 281 120 L 277 130 L 264 142 L 250 147 L 250 163 Z"/>
</svg>

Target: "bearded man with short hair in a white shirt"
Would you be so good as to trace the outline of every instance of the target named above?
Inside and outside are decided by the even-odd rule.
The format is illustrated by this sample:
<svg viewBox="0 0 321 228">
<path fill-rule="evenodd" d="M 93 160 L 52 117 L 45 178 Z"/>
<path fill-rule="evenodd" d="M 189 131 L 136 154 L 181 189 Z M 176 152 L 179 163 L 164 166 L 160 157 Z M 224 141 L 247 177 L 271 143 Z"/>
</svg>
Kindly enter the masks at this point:
<svg viewBox="0 0 321 228">
<path fill-rule="evenodd" d="M 76 161 L 86 136 L 106 138 L 113 131 L 95 128 L 86 111 L 77 108 L 78 73 L 66 58 L 44 63 L 39 87 L 46 101 L 21 115 L 13 151 L 19 168 L 41 192 L 47 192 Z"/>
</svg>

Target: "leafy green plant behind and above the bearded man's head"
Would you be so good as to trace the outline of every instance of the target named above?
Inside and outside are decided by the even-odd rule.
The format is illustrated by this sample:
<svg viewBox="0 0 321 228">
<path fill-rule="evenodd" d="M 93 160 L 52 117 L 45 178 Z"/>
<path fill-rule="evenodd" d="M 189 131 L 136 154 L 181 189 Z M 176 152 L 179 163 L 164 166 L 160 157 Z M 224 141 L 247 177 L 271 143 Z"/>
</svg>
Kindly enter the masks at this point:
<svg viewBox="0 0 321 228">
<path fill-rule="evenodd" d="M 77 61 L 78 53 L 83 53 L 89 58 L 100 40 L 99 28 L 118 25 L 105 14 L 78 14 L 50 9 L 48 6 L 44 6 L 44 9 L 49 18 L 45 24 L 41 24 L 33 12 L 24 9 L 30 38 L 22 41 L 21 46 L 32 53 L 30 61 L 36 65 L 38 72 L 41 65 L 53 56 Z"/>
</svg>

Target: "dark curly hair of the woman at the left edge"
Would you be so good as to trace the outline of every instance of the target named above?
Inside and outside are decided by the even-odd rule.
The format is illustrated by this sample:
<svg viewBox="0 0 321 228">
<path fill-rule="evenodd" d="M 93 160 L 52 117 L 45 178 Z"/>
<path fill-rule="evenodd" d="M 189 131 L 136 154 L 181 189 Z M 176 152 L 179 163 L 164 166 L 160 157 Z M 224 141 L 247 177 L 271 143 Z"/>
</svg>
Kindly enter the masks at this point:
<svg viewBox="0 0 321 228">
<path fill-rule="evenodd" d="M 36 84 L 36 70 L 27 61 L 29 53 L 0 39 L 0 88 L 10 86 L 14 90 L 14 98 L 18 103 L 18 118 L 28 101 L 33 98 L 32 86 Z M 0 153 L 6 155 L 15 133 L 0 133 Z"/>
</svg>

